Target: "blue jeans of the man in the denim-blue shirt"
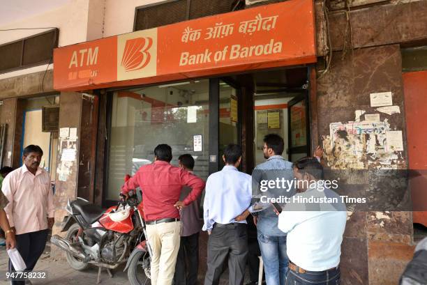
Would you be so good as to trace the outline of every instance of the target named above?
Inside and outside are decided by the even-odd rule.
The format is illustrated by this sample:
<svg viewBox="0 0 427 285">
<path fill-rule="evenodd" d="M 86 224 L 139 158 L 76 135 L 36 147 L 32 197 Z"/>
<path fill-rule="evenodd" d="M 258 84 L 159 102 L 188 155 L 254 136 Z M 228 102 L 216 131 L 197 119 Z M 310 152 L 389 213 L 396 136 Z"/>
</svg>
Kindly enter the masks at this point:
<svg viewBox="0 0 427 285">
<path fill-rule="evenodd" d="M 267 285 L 285 285 L 289 263 L 286 254 L 286 236 L 265 236 L 258 232 L 258 243 Z"/>
</svg>

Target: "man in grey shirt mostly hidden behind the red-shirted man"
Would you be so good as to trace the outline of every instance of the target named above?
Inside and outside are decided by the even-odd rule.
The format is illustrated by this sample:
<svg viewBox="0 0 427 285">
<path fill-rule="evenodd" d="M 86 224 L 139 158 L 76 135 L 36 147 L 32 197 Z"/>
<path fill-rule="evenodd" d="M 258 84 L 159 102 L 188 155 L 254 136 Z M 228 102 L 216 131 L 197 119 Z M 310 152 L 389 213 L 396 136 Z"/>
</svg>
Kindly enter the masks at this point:
<svg viewBox="0 0 427 285">
<path fill-rule="evenodd" d="M 190 154 L 178 157 L 179 167 L 193 174 L 194 158 Z M 183 201 L 190 193 L 190 187 L 183 187 L 179 201 Z M 200 195 L 193 203 L 181 210 L 181 245 L 175 266 L 174 285 L 197 284 L 197 270 L 199 268 L 199 232 L 202 229 L 200 219 Z M 188 261 L 188 262 L 186 262 Z M 188 266 L 187 266 L 188 265 Z"/>
</svg>

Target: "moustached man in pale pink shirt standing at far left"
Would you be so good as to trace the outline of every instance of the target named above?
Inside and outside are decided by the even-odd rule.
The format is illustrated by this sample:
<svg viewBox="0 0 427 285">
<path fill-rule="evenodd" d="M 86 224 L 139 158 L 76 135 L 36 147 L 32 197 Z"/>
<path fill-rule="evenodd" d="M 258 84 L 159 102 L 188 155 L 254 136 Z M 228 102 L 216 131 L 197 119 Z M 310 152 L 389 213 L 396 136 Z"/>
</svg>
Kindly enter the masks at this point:
<svg viewBox="0 0 427 285">
<path fill-rule="evenodd" d="M 29 145 L 24 148 L 24 165 L 10 172 L 1 187 L 9 201 L 4 210 L 15 231 L 16 248 L 28 271 L 33 270 L 43 254 L 48 229 L 52 229 L 54 224 L 50 176 L 45 169 L 39 167 L 42 156 L 40 146 Z M 11 264 L 10 270 L 13 270 Z M 13 281 L 12 284 L 24 285 L 24 281 Z"/>
</svg>

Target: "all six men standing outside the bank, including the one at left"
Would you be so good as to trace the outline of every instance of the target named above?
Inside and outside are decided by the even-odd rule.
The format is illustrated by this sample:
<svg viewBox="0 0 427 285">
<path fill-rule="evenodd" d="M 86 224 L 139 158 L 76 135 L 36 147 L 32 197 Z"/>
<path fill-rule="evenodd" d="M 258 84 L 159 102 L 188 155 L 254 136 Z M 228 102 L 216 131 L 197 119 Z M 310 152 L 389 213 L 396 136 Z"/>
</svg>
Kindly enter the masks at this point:
<svg viewBox="0 0 427 285">
<path fill-rule="evenodd" d="M 258 255 L 262 256 L 267 285 L 339 284 L 345 205 L 327 203 L 307 210 L 286 203 L 280 213 L 257 195 L 260 182 L 265 179 L 324 179 L 317 158 L 304 157 L 292 164 L 282 157 L 283 151 L 280 136 L 264 137 L 266 161 L 257 165 L 250 176 L 239 171 L 241 147 L 230 144 L 223 151 L 225 167 L 204 183 L 193 173 L 195 160 L 190 154 L 179 156 L 179 166 L 174 167 L 170 164 L 172 148 L 167 144 L 156 146 L 154 162 L 140 167 L 121 187 L 121 194 L 126 197 L 130 190 L 142 190 L 147 240 L 152 249 L 151 284 L 197 284 L 200 230 L 209 234 L 205 285 L 219 284 L 226 267 L 229 284 L 242 285 L 247 264 L 250 284 L 262 285 L 255 279 Z M 24 148 L 24 165 L 4 178 L 0 192 L 0 226 L 5 232 L 6 247 L 17 248 L 27 270 L 36 265 L 45 248 L 47 230 L 54 224 L 50 176 L 39 167 L 42 156 L 38 146 Z M 202 220 L 199 210 L 203 190 Z M 329 189 L 315 190 L 311 185 L 286 191 L 273 187 L 267 194 L 337 196 Z M 248 220 L 253 225 L 249 234 Z"/>
</svg>

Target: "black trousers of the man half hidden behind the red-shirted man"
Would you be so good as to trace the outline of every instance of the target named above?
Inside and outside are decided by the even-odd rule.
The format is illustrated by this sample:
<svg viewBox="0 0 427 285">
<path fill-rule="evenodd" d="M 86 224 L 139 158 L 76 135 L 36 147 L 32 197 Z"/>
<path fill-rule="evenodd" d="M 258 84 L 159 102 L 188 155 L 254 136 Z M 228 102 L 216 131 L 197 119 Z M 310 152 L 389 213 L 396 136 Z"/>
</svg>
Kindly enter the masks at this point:
<svg viewBox="0 0 427 285">
<path fill-rule="evenodd" d="M 174 285 L 197 284 L 199 269 L 199 233 L 181 236 L 177 265 L 175 266 Z"/>
</svg>

